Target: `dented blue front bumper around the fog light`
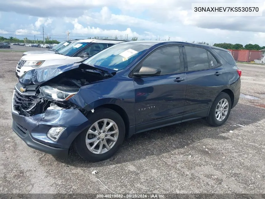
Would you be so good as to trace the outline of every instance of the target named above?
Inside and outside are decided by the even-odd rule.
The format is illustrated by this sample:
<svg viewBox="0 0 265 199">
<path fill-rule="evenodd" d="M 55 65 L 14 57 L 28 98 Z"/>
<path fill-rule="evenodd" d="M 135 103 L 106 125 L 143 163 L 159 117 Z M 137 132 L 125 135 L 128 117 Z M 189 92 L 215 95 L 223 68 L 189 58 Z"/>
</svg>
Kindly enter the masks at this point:
<svg viewBox="0 0 265 199">
<path fill-rule="evenodd" d="M 12 112 L 13 131 L 31 148 L 61 158 L 68 156 L 68 150 L 76 136 L 91 125 L 77 109 L 46 110 L 45 113 L 25 117 Z M 52 127 L 66 127 L 59 139 L 50 140 L 46 133 Z"/>
</svg>

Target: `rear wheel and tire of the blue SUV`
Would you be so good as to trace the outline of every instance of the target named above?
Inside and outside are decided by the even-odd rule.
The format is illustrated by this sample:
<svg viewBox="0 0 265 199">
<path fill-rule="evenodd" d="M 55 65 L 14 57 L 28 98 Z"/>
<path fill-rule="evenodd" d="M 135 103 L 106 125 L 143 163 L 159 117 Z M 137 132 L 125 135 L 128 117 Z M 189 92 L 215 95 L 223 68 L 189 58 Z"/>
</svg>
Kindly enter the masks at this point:
<svg viewBox="0 0 265 199">
<path fill-rule="evenodd" d="M 212 126 L 223 125 L 231 111 L 231 98 L 227 93 L 220 92 L 215 98 L 206 121 Z"/>
</svg>

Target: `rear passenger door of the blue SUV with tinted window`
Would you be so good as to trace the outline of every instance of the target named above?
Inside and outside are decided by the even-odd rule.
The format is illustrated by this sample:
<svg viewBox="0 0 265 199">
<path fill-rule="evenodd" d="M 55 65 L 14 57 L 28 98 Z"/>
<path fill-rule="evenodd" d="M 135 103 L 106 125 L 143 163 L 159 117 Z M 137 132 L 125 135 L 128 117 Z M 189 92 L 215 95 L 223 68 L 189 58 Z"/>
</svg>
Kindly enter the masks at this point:
<svg viewBox="0 0 265 199">
<path fill-rule="evenodd" d="M 183 54 L 187 75 L 183 120 L 205 117 L 225 85 L 225 69 L 206 48 L 183 46 Z"/>
</svg>

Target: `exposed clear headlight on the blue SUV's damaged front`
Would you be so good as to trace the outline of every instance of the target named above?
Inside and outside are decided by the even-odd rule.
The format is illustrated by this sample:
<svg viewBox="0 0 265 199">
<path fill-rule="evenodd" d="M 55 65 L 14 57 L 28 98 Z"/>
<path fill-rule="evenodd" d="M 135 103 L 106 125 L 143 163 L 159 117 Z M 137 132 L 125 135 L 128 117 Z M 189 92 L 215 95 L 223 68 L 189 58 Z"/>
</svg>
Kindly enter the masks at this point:
<svg viewBox="0 0 265 199">
<path fill-rule="evenodd" d="M 73 97 L 75 94 L 77 94 L 77 92 L 65 92 L 65 91 L 60 91 L 51 86 L 41 86 L 40 94 L 42 97 L 45 97 L 51 100 L 64 101 L 64 100 L 68 100 L 69 98 Z"/>
</svg>

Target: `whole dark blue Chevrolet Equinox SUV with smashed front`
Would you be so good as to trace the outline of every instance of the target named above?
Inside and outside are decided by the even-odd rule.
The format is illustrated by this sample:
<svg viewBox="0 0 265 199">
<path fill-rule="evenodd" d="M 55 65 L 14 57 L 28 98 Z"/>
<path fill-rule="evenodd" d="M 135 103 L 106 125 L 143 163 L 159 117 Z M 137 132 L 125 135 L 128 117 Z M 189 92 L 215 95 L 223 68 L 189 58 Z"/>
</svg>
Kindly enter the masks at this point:
<svg viewBox="0 0 265 199">
<path fill-rule="evenodd" d="M 34 149 L 89 161 L 111 157 L 128 137 L 192 119 L 228 119 L 240 95 L 231 53 L 173 41 L 116 44 L 82 63 L 33 69 L 15 86 L 14 132 Z"/>
</svg>

